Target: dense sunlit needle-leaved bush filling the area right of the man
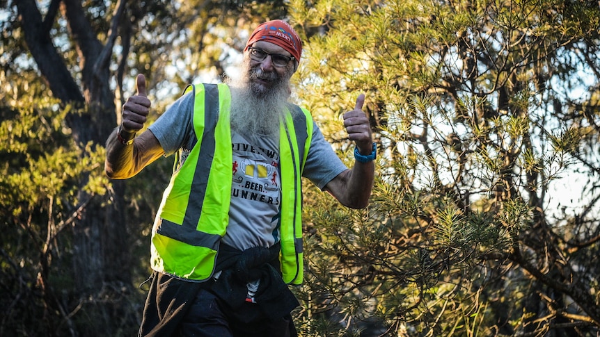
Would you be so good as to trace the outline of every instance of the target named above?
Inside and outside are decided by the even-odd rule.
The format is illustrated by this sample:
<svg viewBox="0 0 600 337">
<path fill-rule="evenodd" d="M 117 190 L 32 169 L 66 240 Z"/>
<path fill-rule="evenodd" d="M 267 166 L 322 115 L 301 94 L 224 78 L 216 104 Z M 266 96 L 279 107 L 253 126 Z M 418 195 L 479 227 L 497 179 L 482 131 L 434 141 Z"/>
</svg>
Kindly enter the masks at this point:
<svg viewBox="0 0 600 337">
<path fill-rule="evenodd" d="M 379 138 L 368 211 L 305 199 L 305 336 L 597 334 L 597 3 L 291 1 L 290 13 L 308 41 L 300 91 L 326 135 L 352 156 L 329 121 L 366 92 Z M 576 175 L 571 202 L 556 186 Z"/>
</svg>

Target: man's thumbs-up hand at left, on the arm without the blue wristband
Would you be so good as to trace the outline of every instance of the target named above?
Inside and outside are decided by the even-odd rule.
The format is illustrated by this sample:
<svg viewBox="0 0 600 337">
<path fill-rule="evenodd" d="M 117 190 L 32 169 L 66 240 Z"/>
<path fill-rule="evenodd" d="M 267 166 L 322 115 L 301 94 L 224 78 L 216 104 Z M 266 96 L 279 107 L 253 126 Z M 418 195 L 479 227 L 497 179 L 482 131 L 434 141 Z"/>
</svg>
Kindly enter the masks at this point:
<svg viewBox="0 0 600 337">
<path fill-rule="evenodd" d="M 123 104 L 122 128 L 128 132 L 137 132 L 143 128 L 150 111 L 150 99 L 146 94 L 146 81 L 143 74 L 136 77 L 136 94 Z"/>
</svg>

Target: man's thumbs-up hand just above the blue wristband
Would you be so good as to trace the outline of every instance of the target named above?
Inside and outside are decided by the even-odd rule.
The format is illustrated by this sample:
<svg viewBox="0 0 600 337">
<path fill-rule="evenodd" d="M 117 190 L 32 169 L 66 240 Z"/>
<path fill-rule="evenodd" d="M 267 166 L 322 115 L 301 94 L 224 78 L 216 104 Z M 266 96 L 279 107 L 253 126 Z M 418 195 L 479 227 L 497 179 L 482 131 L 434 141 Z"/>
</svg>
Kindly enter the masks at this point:
<svg viewBox="0 0 600 337">
<path fill-rule="evenodd" d="M 360 94 L 356 99 L 354 110 L 344 114 L 344 126 L 349 140 L 354 140 L 358 151 L 366 155 L 372 151 L 373 140 L 369 119 L 363 112 L 363 104 L 365 104 L 365 94 Z"/>
</svg>

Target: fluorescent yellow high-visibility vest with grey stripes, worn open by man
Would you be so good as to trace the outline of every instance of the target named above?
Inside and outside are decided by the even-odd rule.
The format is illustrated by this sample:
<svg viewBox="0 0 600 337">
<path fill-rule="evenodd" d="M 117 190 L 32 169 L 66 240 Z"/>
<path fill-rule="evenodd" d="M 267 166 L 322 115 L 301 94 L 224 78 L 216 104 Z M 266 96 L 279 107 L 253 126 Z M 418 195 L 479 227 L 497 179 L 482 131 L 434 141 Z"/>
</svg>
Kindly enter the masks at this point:
<svg viewBox="0 0 600 337">
<path fill-rule="evenodd" d="M 190 85 L 198 142 L 173 172 L 152 229 L 153 270 L 205 281 L 214 274 L 229 222 L 232 187 L 231 96 L 225 84 Z M 217 99 L 218 97 L 218 99 Z M 313 117 L 299 106 L 281 121 L 281 272 L 285 283 L 303 279 L 301 174 L 313 135 Z"/>
</svg>

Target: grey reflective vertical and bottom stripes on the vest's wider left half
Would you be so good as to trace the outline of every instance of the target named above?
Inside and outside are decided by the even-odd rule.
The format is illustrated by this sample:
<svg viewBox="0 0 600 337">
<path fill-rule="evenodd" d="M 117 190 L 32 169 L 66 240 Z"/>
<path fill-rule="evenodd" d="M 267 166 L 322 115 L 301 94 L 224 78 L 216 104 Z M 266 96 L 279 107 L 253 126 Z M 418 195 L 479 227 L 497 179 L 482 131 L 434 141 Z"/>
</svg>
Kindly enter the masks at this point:
<svg viewBox="0 0 600 337">
<path fill-rule="evenodd" d="M 204 131 L 198 158 L 203 158 L 198 161 L 196 171 L 194 172 L 194 180 L 191 183 L 187 211 L 184 215 L 183 223 L 176 224 L 168 220 L 161 219 L 161 224 L 157 229 L 157 233 L 173 238 L 182 243 L 196 247 L 207 247 L 214 249 L 221 236 L 216 234 L 208 234 L 203 231 L 198 231 L 198 221 L 200 220 L 200 211 L 203 206 L 204 197 L 206 194 L 206 186 L 208 182 L 207 172 L 210 172 L 212 158 L 214 158 L 214 129 L 217 120 L 219 120 L 219 88 L 216 84 L 205 84 L 205 105 L 204 105 Z M 196 87 L 192 92 L 196 99 Z M 216 98 L 216 99 L 215 99 Z M 194 101 L 194 106 L 196 102 Z M 196 144 L 198 146 L 198 144 Z M 194 210 L 196 212 L 190 211 Z"/>
</svg>

